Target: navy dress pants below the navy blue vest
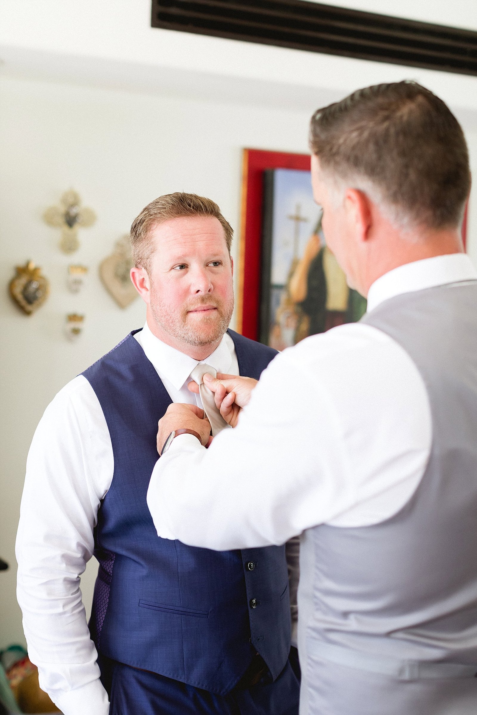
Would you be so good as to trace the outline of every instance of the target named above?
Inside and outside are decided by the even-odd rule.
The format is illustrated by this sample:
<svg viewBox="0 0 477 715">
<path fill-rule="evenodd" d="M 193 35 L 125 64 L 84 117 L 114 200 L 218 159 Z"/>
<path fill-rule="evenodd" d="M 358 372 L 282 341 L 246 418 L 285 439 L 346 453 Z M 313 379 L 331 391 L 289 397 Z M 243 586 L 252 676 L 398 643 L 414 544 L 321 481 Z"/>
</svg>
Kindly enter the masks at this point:
<svg viewBox="0 0 477 715">
<path fill-rule="evenodd" d="M 110 666 L 109 715 L 298 715 L 300 684 L 290 661 L 275 683 L 215 695 L 122 663 Z"/>
</svg>

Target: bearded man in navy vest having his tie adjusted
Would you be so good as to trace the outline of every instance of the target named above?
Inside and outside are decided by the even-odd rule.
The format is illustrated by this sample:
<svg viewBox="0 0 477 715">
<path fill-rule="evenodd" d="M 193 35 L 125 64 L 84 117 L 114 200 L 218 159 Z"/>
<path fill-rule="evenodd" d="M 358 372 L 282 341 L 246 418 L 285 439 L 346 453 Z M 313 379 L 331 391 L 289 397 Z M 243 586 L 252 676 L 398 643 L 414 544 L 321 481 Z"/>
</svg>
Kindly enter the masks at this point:
<svg viewBox="0 0 477 715">
<path fill-rule="evenodd" d="M 285 549 L 160 539 L 146 502 L 157 421 L 174 401 L 202 406 L 191 375 L 259 378 L 275 351 L 227 332 L 232 228 L 217 204 L 159 197 L 131 240 L 146 325 L 56 395 L 29 452 L 16 544 L 29 656 L 64 715 L 296 715 Z M 214 433 L 228 429 L 215 412 Z"/>
</svg>

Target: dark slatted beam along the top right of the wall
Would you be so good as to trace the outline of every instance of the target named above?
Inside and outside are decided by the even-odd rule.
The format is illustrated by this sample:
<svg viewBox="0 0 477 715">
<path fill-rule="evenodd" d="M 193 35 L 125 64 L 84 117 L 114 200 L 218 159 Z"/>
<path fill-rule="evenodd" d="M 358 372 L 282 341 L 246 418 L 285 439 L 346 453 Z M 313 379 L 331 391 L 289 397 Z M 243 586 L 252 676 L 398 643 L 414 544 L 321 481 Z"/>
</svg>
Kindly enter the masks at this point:
<svg viewBox="0 0 477 715">
<path fill-rule="evenodd" d="M 303 0 L 152 0 L 152 26 L 477 75 L 477 32 Z"/>
</svg>

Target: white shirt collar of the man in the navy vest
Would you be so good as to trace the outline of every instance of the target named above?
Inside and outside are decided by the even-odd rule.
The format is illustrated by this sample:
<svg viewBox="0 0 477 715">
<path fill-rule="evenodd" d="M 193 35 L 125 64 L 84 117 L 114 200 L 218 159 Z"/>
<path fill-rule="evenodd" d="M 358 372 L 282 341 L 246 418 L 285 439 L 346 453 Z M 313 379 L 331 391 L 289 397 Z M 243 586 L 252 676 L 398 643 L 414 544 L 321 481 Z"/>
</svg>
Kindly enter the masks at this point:
<svg viewBox="0 0 477 715">
<path fill-rule="evenodd" d="M 189 355 L 185 355 L 185 352 L 180 352 L 175 347 L 162 342 L 162 340 L 153 335 L 147 323 L 141 332 L 141 345 L 144 354 L 149 362 L 154 365 L 159 376 L 169 380 L 176 390 L 180 390 L 188 381 L 190 373 L 199 363 L 207 363 L 211 368 L 215 368 L 217 373 L 227 373 L 232 364 L 232 355 L 227 346 L 225 336 L 222 337 L 214 352 L 205 360 L 194 360 Z"/>
</svg>

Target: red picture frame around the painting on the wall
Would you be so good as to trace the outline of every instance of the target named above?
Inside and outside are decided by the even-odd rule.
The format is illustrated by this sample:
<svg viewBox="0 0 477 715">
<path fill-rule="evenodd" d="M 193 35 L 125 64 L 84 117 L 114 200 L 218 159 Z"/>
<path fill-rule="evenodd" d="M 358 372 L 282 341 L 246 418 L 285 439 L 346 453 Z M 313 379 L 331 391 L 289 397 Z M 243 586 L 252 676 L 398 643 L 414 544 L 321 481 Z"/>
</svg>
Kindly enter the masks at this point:
<svg viewBox="0 0 477 715">
<path fill-rule="evenodd" d="M 237 331 L 252 340 L 258 340 L 259 335 L 263 172 L 265 169 L 310 171 L 310 160 L 310 154 L 243 150 Z M 466 231 L 467 207 L 462 223 L 464 248 Z"/>
</svg>

